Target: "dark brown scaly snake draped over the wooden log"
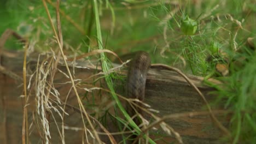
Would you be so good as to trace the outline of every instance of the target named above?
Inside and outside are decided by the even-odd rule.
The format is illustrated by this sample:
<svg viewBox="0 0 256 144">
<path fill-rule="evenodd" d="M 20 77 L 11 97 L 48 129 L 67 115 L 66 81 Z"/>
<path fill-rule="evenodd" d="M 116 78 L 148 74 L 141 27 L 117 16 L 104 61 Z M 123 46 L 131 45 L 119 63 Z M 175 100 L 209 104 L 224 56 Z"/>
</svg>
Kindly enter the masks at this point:
<svg viewBox="0 0 256 144">
<path fill-rule="evenodd" d="M 135 56 L 131 61 L 127 74 L 127 98 L 139 99 L 140 101 L 144 101 L 146 79 L 148 70 L 150 68 L 150 63 L 150 57 L 147 52 L 138 51 L 135 53 Z M 143 107 L 141 103 L 136 104 Z M 135 109 L 140 115 L 143 116 L 143 111 L 140 108 L 135 107 Z M 130 104 L 127 104 L 127 112 L 131 117 L 136 115 L 136 111 L 131 107 Z M 133 119 L 133 121 L 135 121 L 137 125 L 141 123 L 138 117 Z"/>
</svg>

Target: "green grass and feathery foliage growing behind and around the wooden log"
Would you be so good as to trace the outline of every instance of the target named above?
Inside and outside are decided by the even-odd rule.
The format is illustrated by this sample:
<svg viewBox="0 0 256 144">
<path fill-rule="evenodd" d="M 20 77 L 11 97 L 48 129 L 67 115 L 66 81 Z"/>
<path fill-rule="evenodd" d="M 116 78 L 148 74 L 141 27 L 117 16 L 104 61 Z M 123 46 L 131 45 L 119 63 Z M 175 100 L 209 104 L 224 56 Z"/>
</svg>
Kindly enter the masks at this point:
<svg viewBox="0 0 256 144">
<path fill-rule="evenodd" d="M 54 16 L 55 1 L 48 0 L 47 4 Z M 41 1 L 8 0 L 2 1 L 0 7 L 0 33 L 11 28 L 30 39 L 36 50 L 54 49 L 56 39 Z M 255 8 L 256 3 L 249 0 L 61 1 L 63 49 L 75 55 L 97 49 L 109 49 L 119 55 L 143 50 L 149 52 L 152 63 L 164 63 L 205 77 L 206 85 L 214 86 L 208 78 L 217 79 L 223 85 L 215 86 L 218 98 L 212 105 L 224 103 L 224 109 L 233 112 L 228 125 L 232 143 L 255 143 Z M 55 17 L 53 21 L 56 22 Z M 254 38 L 254 48 L 248 46 L 248 38 Z M 21 46 L 11 39 L 5 47 Z M 109 73 L 114 58 L 100 53 L 99 57 L 85 59 L 101 63 L 103 78 L 115 101 L 113 116 L 123 124 L 124 118 L 118 115 L 121 111 L 139 135 L 138 125 L 131 121 L 115 94 L 113 79 L 123 77 Z M 96 87 L 100 78 L 92 85 Z M 94 110 L 96 105 L 93 102 L 85 107 Z"/>
</svg>

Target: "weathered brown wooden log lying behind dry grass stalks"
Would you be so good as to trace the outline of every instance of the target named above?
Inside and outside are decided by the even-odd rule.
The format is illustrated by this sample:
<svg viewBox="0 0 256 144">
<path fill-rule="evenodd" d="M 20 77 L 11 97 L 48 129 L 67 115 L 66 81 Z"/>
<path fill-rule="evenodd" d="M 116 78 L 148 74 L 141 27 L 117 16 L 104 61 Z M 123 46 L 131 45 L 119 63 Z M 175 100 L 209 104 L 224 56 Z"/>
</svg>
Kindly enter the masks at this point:
<svg viewBox="0 0 256 144">
<path fill-rule="evenodd" d="M 22 52 L 4 52 L 5 54 L 1 57 L 1 65 L 8 71 L 14 72 L 16 75 L 22 77 L 22 63 L 23 63 L 23 53 Z M 8 54 L 9 53 L 9 54 Z M 27 63 L 27 73 L 30 74 L 27 76 L 27 82 L 30 80 L 30 76 L 36 70 L 37 64 L 37 55 L 30 57 L 33 59 Z M 41 59 L 42 60 L 42 59 Z M 50 62 L 50 59 L 48 59 Z M 99 96 L 101 98 L 106 95 L 106 93 L 100 93 L 101 91 L 94 91 L 88 93 L 84 90 L 84 87 L 87 87 L 89 84 L 95 84 L 95 87 L 104 87 L 106 84 L 104 81 L 96 81 L 97 77 L 90 77 L 91 75 L 97 74 L 99 70 L 94 69 L 89 63 L 81 62 L 79 65 L 88 66 L 90 69 L 85 68 L 72 68 L 69 67 L 72 71 L 75 80 L 80 80 L 80 85 L 78 88 L 78 93 L 80 98 L 84 98 L 84 104 L 86 105 L 86 110 L 89 113 L 96 113 L 100 110 L 106 109 L 106 106 L 111 106 L 109 101 L 104 101 L 101 99 L 101 102 L 97 101 Z M 46 66 L 45 66 L 46 67 Z M 79 107 L 77 104 L 77 98 L 75 97 L 74 91 L 71 89 L 70 80 L 63 74 L 67 73 L 66 68 L 62 65 L 59 65 L 58 68 L 60 71 L 57 71 L 54 77 L 54 87 L 60 93 L 61 101 L 66 101 L 67 104 Z M 98 67 L 99 68 L 99 67 Z M 61 72 L 63 71 L 63 73 Z M 216 96 L 209 94 L 209 92 L 214 91 L 213 88 L 202 85 L 202 77 L 197 76 L 188 76 L 191 81 L 200 89 L 200 91 L 205 94 L 208 101 L 212 101 Z M 35 76 L 32 77 L 31 87 L 34 87 Z M 50 78 L 48 78 L 50 80 Z M 81 83 L 84 82 L 84 83 Z M 218 81 L 212 80 L 214 83 Z M 28 83 L 27 83 L 28 84 Z M 32 124 L 30 126 L 30 141 L 31 143 L 45 142 L 45 136 L 42 133 L 42 124 L 40 123 L 40 116 L 36 117 L 38 109 L 35 101 L 35 92 L 34 89 L 30 91 L 27 90 L 30 95 L 28 103 L 30 105 L 28 108 L 28 123 Z M 22 116 L 23 116 L 23 107 L 24 99 L 20 96 L 23 94 L 22 81 L 14 80 L 8 74 L 0 73 L 0 130 L 3 131 L 0 135 L 0 141 L 3 143 L 21 143 L 21 130 L 22 130 Z M 46 91 L 45 91 L 46 93 Z M 68 98 L 67 98 L 68 95 Z M 54 98 L 51 95 L 51 98 Z M 86 100 L 88 99 L 88 100 Z M 89 100 L 96 100 L 94 103 Z M 103 101 L 103 102 L 102 102 Z M 147 76 L 146 83 L 146 101 L 147 104 L 152 106 L 152 109 L 158 110 L 158 116 L 171 115 L 176 113 L 185 113 L 185 112 L 197 112 L 202 111 L 205 107 L 205 104 L 202 101 L 202 98 L 197 94 L 194 88 L 190 87 L 189 84 L 181 77 L 179 74 L 170 70 L 159 70 L 159 69 L 150 69 Z M 96 109 L 93 105 L 103 104 Z M 107 105 L 109 104 L 109 105 Z M 59 109 L 60 110 L 60 109 Z M 206 109 L 204 109 L 206 110 Z M 82 117 L 79 112 L 76 112 L 72 109 L 66 108 L 65 111 L 69 115 L 65 115 L 65 141 L 66 143 L 81 143 L 85 141 L 84 131 L 82 130 L 73 130 L 73 127 L 83 129 Z M 98 112 L 100 113 L 100 112 Z M 98 115 L 96 113 L 96 115 Z M 58 132 L 57 126 L 61 129 L 62 119 L 57 112 L 49 113 L 49 125 L 50 125 L 50 141 L 52 143 L 60 143 L 60 134 Z M 224 124 L 226 120 L 223 115 L 218 115 Z M 55 120 L 54 120 L 55 118 Z M 148 117 L 148 119 L 150 119 Z M 54 122 L 57 122 L 57 126 Z M 221 143 L 219 137 L 221 133 L 216 125 L 213 124 L 209 115 L 200 115 L 194 117 L 177 117 L 166 119 L 165 121 L 168 125 L 171 125 L 174 130 L 181 135 L 184 143 Z M 38 127 L 40 125 L 41 127 Z M 88 127 L 89 128 L 89 127 Z M 150 137 L 152 139 L 158 138 L 159 134 L 164 134 L 164 132 L 159 130 L 150 130 Z M 162 140 L 156 141 L 157 143 L 177 143 L 175 137 L 165 136 Z"/>
</svg>

